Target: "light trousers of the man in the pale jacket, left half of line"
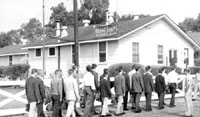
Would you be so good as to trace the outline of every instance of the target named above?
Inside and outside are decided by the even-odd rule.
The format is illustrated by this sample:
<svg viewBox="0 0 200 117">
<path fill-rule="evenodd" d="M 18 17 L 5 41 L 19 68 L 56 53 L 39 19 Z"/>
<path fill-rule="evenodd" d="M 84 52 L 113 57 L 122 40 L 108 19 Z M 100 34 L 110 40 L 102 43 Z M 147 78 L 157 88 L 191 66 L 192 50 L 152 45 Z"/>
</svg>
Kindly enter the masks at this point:
<svg viewBox="0 0 200 117">
<path fill-rule="evenodd" d="M 74 105 L 75 105 L 75 100 L 68 101 L 66 117 L 71 117 L 71 116 L 76 117 L 76 114 L 74 112 Z"/>
</svg>

